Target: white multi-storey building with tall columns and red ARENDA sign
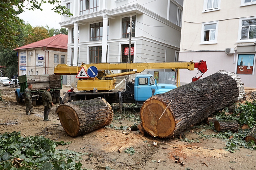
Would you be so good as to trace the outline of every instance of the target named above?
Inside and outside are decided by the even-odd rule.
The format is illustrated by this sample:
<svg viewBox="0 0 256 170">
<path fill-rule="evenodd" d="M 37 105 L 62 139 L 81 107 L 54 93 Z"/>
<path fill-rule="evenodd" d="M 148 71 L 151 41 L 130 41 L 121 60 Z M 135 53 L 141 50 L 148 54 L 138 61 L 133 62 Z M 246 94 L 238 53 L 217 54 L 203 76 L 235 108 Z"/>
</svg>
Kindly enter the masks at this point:
<svg viewBox="0 0 256 170">
<path fill-rule="evenodd" d="M 131 61 L 176 60 L 183 0 L 62 0 L 62 5 L 73 13 L 71 17 L 62 16 L 59 23 L 69 30 L 70 65 L 128 62 L 131 15 Z"/>
</svg>

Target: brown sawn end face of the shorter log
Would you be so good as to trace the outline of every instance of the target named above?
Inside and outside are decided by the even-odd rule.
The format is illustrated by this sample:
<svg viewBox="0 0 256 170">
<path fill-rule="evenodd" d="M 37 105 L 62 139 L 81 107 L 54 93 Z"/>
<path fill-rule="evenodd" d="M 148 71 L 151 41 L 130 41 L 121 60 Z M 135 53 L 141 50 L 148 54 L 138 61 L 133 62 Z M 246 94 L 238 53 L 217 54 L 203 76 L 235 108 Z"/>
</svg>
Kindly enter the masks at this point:
<svg viewBox="0 0 256 170">
<path fill-rule="evenodd" d="M 70 106 L 58 107 L 57 113 L 59 115 L 60 123 L 68 135 L 74 137 L 79 131 L 79 119 L 74 109 Z"/>
</svg>

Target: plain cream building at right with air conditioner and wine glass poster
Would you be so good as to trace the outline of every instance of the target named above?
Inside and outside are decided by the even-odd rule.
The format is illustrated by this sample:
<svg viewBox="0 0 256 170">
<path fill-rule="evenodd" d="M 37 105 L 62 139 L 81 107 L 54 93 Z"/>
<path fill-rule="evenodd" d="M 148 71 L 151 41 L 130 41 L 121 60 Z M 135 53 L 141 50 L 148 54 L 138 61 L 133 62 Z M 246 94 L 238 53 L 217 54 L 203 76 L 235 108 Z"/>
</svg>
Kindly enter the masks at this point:
<svg viewBox="0 0 256 170">
<path fill-rule="evenodd" d="M 184 0 L 179 61 L 206 61 L 204 77 L 223 69 L 256 87 L 255 44 L 256 0 Z M 180 73 L 185 84 L 197 71 Z"/>
</svg>

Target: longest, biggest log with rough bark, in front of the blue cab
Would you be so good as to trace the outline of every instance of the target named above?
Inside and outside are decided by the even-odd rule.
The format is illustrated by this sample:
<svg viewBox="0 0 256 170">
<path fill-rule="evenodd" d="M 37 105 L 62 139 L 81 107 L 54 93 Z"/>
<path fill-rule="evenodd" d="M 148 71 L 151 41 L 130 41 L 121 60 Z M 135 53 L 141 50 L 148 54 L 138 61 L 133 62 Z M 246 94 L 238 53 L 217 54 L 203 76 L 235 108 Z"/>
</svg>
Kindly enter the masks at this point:
<svg viewBox="0 0 256 170">
<path fill-rule="evenodd" d="M 153 137 L 178 135 L 188 126 L 201 122 L 244 96 L 240 78 L 233 72 L 220 70 L 201 80 L 150 97 L 140 109 L 142 127 Z"/>
</svg>

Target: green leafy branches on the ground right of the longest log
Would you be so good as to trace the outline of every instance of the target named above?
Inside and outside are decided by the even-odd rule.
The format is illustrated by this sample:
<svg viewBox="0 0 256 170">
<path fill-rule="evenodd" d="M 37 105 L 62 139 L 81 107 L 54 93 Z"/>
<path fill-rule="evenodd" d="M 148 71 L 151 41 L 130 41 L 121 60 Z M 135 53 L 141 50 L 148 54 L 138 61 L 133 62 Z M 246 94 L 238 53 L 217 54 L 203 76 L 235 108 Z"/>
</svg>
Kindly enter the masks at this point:
<svg viewBox="0 0 256 170">
<path fill-rule="evenodd" d="M 227 114 L 229 112 L 228 108 L 224 108 L 220 112 L 215 113 L 215 118 L 217 120 L 236 120 L 240 124 L 240 126 L 247 124 L 252 128 L 256 125 L 256 101 L 253 102 L 245 102 L 245 104 L 237 104 L 237 107 L 234 110 L 233 114 Z M 226 114 L 225 114 L 226 113 Z M 256 145 L 254 141 L 246 142 L 245 137 L 250 132 L 249 129 L 239 129 L 238 132 L 231 132 L 231 131 L 225 131 L 225 132 L 217 132 L 214 129 L 213 123 L 210 122 L 210 125 L 205 124 L 197 124 L 192 127 L 193 129 L 200 129 L 200 131 L 194 131 L 195 134 L 197 134 L 200 139 L 206 140 L 211 138 L 219 138 L 226 142 L 226 151 L 229 151 L 231 153 L 236 152 L 239 148 L 248 148 L 251 150 L 256 150 Z M 207 129 L 214 130 L 215 133 L 212 133 L 210 135 L 204 134 L 204 132 Z M 196 138 L 197 139 L 197 138 Z M 198 140 L 198 139 L 197 139 Z M 184 142 L 197 142 L 196 140 L 188 139 L 186 137 L 183 137 L 181 141 Z M 198 140 L 199 141 L 199 140 Z"/>
</svg>

